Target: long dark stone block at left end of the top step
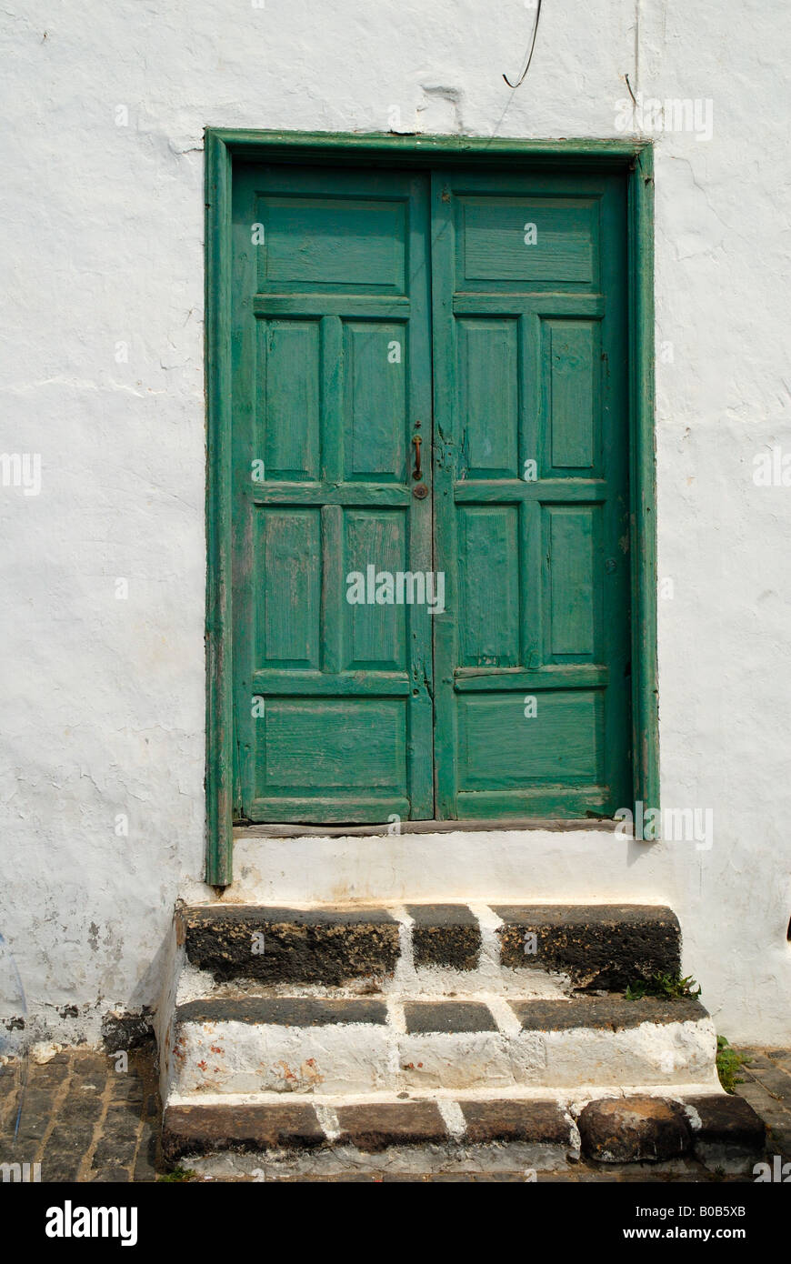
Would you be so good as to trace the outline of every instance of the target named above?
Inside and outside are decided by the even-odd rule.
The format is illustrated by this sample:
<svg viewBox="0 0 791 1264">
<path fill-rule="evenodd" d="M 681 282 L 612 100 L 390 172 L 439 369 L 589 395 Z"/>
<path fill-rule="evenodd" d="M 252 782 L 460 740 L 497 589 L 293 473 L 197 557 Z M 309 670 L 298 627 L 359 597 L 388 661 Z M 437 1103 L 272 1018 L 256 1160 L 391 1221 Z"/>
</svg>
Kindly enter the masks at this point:
<svg viewBox="0 0 791 1264">
<path fill-rule="evenodd" d="M 398 923 L 384 909 L 198 905 L 181 914 L 187 958 L 217 982 L 329 983 L 389 975 Z"/>
</svg>

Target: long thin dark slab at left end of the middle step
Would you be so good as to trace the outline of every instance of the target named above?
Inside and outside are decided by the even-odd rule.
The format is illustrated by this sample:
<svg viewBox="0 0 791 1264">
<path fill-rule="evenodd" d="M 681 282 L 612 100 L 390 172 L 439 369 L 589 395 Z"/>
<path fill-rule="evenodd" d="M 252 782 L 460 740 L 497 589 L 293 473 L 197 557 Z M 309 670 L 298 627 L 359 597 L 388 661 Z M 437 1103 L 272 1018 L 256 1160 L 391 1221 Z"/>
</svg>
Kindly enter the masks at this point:
<svg viewBox="0 0 791 1264">
<path fill-rule="evenodd" d="M 272 1026 L 329 1026 L 335 1023 L 387 1023 L 384 1001 L 312 996 L 234 996 L 188 1001 L 177 1023 L 249 1023 Z"/>
</svg>

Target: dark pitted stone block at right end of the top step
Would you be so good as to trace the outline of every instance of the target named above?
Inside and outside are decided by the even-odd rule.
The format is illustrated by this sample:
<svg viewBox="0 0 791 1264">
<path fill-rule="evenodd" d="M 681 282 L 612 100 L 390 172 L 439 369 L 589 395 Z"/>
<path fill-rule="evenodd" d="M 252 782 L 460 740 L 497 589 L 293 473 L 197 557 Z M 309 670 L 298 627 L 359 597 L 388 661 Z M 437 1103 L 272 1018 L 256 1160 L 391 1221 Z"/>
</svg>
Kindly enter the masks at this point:
<svg viewBox="0 0 791 1264">
<path fill-rule="evenodd" d="M 493 905 L 503 966 L 562 971 L 579 988 L 623 991 L 681 971 L 681 929 L 655 905 Z M 534 938 L 533 938 L 534 937 Z M 533 951 L 534 949 L 534 951 Z"/>
</svg>

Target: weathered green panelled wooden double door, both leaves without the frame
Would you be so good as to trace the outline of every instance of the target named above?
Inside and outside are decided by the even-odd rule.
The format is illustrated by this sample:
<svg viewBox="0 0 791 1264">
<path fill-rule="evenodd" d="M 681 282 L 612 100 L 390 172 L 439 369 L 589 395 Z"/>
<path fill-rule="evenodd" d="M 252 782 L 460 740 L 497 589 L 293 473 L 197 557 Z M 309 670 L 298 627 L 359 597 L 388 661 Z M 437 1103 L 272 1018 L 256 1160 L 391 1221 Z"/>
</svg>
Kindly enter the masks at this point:
<svg viewBox="0 0 791 1264">
<path fill-rule="evenodd" d="M 617 177 L 236 169 L 239 818 L 631 803 L 625 274 Z"/>
</svg>

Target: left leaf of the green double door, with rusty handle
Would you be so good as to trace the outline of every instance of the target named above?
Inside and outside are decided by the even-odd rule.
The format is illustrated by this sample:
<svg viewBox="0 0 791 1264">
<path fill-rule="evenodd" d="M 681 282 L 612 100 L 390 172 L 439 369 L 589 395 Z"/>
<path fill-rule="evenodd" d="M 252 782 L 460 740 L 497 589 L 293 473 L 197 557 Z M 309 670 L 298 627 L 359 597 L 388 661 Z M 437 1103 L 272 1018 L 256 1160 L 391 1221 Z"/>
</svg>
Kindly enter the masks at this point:
<svg viewBox="0 0 791 1264">
<path fill-rule="evenodd" d="M 433 814 L 427 177 L 234 179 L 234 691 L 249 820 Z M 359 576 L 363 579 L 360 588 Z M 388 579 L 389 576 L 389 579 Z M 392 586 L 390 586 L 392 585 Z"/>
</svg>

